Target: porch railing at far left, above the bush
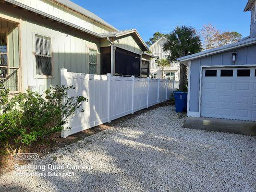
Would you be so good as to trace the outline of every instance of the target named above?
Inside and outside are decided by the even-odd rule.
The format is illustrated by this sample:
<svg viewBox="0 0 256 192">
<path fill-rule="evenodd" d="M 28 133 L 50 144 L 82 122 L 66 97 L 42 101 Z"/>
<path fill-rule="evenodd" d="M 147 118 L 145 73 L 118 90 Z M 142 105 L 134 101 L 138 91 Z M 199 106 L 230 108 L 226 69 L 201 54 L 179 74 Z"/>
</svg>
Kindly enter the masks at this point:
<svg viewBox="0 0 256 192">
<path fill-rule="evenodd" d="M 0 66 L 0 89 L 9 89 L 11 93 L 19 91 L 18 67 Z"/>
</svg>

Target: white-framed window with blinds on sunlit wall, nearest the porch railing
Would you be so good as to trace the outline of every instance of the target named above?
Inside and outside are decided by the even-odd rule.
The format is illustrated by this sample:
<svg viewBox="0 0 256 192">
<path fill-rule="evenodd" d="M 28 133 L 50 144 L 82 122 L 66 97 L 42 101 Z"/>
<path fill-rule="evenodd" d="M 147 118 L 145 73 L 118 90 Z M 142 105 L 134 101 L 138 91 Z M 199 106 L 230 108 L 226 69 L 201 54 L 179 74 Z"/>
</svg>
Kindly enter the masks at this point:
<svg viewBox="0 0 256 192">
<path fill-rule="evenodd" d="M 51 38 L 37 35 L 36 40 L 36 74 L 51 76 Z"/>
</svg>

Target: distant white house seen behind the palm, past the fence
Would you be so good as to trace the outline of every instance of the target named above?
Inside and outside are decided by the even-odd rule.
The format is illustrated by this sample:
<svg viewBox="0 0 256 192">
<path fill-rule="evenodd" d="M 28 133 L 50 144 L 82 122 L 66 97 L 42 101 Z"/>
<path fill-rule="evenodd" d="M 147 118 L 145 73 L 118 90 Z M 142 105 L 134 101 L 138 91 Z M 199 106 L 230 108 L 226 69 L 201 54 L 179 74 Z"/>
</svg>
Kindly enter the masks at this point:
<svg viewBox="0 0 256 192">
<path fill-rule="evenodd" d="M 150 75 L 152 78 L 180 80 L 180 64 L 178 62 L 171 63 L 170 67 L 164 68 L 164 72 L 157 66 L 156 61 L 161 59 L 167 59 L 169 52 L 163 51 L 163 44 L 167 42 L 167 38 L 162 36 L 155 43 L 153 43 L 149 50 L 155 59 L 150 60 Z"/>
</svg>

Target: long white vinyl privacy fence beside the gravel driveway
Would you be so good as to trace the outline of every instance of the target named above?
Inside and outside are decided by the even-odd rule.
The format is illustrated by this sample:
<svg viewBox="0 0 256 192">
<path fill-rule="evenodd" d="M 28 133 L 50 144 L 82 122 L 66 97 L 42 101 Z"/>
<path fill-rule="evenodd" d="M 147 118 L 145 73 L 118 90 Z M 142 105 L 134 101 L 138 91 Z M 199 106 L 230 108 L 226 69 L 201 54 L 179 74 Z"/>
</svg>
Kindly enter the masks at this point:
<svg viewBox="0 0 256 192">
<path fill-rule="evenodd" d="M 85 112 L 76 113 L 65 125 L 65 128 L 72 127 L 62 131 L 61 136 L 65 138 L 166 101 L 171 92 L 179 87 L 179 82 L 110 74 L 92 75 L 61 69 L 61 85 L 76 88 L 69 90 L 68 96 L 85 96 L 89 100 L 81 106 Z"/>
</svg>

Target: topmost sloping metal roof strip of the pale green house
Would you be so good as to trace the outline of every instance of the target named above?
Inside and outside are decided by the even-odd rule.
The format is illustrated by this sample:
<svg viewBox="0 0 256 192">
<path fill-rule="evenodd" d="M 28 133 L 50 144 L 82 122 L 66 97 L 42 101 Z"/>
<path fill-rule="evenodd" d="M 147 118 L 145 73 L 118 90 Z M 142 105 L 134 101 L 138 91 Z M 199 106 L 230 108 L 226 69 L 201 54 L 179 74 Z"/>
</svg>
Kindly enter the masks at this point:
<svg viewBox="0 0 256 192">
<path fill-rule="evenodd" d="M 71 0 L 56 0 L 57 2 L 61 3 L 62 5 L 65 5 L 67 7 L 69 7 L 70 9 L 73 9 L 76 12 L 80 12 L 83 15 L 92 18 L 93 20 L 104 24 L 110 28 L 112 28 L 113 30 L 118 31 L 118 29 L 116 29 L 114 26 L 112 26 L 111 24 L 107 23 L 106 21 L 104 21 L 103 19 L 101 19 L 100 17 L 98 17 L 96 14 L 94 14 L 93 12 L 89 12 L 88 10 L 86 10 L 85 8 L 73 3 Z"/>
</svg>

